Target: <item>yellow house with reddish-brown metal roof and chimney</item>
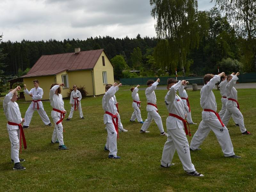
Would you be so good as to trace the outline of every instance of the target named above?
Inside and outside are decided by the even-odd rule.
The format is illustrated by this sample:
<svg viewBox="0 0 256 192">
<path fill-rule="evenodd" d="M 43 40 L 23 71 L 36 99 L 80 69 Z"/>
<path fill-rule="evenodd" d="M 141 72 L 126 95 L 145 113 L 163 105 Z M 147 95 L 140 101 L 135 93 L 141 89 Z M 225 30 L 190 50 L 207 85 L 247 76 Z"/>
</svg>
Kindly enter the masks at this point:
<svg viewBox="0 0 256 192">
<path fill-rule="evenodd" d="M 105 85 L 114 83 L 114 68 L 103 49 L 80 51 L 76 48 L 74 53 L 42 55 L 28 74 L 21 77 L 28 90 L 37 79 L 44 90 L 42 100 L 49 100 L 52 83 L 65 84 L 61 92 L 63 98 L 73 84 L 84 86 L 89 96 L 104 94 Z M 29 95 L 25 95 L 25 99 L 32 100 Z"/>
</svg>

